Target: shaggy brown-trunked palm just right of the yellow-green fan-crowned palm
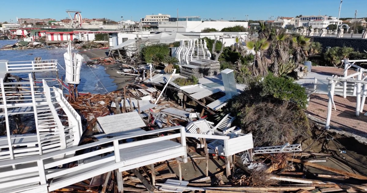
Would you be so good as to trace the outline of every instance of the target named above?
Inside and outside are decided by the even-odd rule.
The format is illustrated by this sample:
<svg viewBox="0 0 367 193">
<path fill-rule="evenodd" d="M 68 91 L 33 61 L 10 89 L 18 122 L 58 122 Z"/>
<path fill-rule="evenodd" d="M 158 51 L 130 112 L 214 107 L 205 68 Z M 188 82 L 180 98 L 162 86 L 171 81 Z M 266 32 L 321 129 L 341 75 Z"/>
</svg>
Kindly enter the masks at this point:
<svg viewBox="0 0 367 193">
<path fill-rule="evenodd" d="M 273 62 L 273 72 L 277 75 L 279 63 L 286 63 L 289 61 L 289 35 L 285 31 L 279 31 L 275 36 L 273 43 L 273 51 L 271 59 Z"/>
</svg>

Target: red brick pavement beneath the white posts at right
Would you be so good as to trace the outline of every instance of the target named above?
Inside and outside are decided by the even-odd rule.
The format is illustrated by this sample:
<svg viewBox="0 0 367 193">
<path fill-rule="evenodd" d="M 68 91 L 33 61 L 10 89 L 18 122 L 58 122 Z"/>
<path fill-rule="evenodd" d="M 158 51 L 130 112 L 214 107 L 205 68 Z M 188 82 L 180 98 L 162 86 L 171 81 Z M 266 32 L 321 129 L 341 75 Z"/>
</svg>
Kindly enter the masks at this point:
<svg viewBox="0 0 367 193">
<path fill-rule="evenodd" d="M 329 97 L 326 94 L 313 94 L 310 97 L 310 104 L 306 110 L 307 113 L 326 121 L 327 103 Z M 356 113 L 356 97 L 334 96 L 334 102 L 337 110 L 331 112 L 330 125 L 361 134 L 367 134 L 367 105 L 364 106 L 363 113 L 359 117 Z"/>
</svg>

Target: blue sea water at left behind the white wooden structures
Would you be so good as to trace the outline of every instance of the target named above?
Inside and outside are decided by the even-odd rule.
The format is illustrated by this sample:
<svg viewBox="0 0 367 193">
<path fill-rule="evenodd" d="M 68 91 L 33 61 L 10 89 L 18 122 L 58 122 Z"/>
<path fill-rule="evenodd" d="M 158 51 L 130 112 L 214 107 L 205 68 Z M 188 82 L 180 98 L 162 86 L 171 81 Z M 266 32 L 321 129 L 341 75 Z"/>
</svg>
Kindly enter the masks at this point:
<svg viewBox="0 0 367 193">
<path fill-rule="evenodd" d="M 0 40 L 0 47 L 8 44 L 15 44 L 17 40 Z M 59 78 L 65 79 L 65 61 L 63 54 L 66 48 L 38 48 L 38 49 L 23 49 L 23 50 L 0 50 L 0 60 L 9 61 L 33 61 L 34 57 L 42 57 L 42 60 L 57 60 L 59 63 Z M 77 50 L 73 50 L 77 52 Z M 87 58 L 84 58 L 86 60 Z M 27 73 L 14 74 L 21 78 L 28 78 Z M 56 78 L 56 73 L 52 71 L 36 72 L 36 79 L 41 78 Z M 80 69 L 80 84 L 79 92 L 90 93 L 106 93 L 117 89 L 113 79 L 105 72 L 105 67 L 98 65 L 97 67 L 88 67 L 83 61 Z M 48 86 L 58 87 L 57 81 L 48 82 Z"/>
</svg>

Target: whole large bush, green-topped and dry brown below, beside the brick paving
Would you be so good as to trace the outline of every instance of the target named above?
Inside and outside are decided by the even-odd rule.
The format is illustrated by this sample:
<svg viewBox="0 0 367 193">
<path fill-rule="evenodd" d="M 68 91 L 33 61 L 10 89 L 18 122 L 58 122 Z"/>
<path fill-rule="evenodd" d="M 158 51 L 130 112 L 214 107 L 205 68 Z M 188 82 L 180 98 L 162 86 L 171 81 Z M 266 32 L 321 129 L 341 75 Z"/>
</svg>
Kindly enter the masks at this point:
<svg viewBox="0 0 367 193">
<path fill-rule="evenodd" d="M 241 94 L 228 101 L 237 126 L 252 132 L 255 146 L 276 146 L 309 137 L 311 125 L 302 108 L 305 89 L 290 79 L 266 76 L 254 79 Z"/>
</svg>

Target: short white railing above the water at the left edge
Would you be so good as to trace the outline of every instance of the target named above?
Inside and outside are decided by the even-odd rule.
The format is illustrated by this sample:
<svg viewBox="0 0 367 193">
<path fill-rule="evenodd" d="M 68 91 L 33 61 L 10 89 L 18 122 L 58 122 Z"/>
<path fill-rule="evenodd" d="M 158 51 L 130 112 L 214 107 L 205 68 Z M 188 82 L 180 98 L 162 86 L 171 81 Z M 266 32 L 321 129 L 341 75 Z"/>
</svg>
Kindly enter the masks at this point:
<svg viewBox="0 0 367 193">
<path fill-rule="evenodd" d="M 57 71 L 57 60 L 6 61 L 7 73 Z"/>
</svg>

